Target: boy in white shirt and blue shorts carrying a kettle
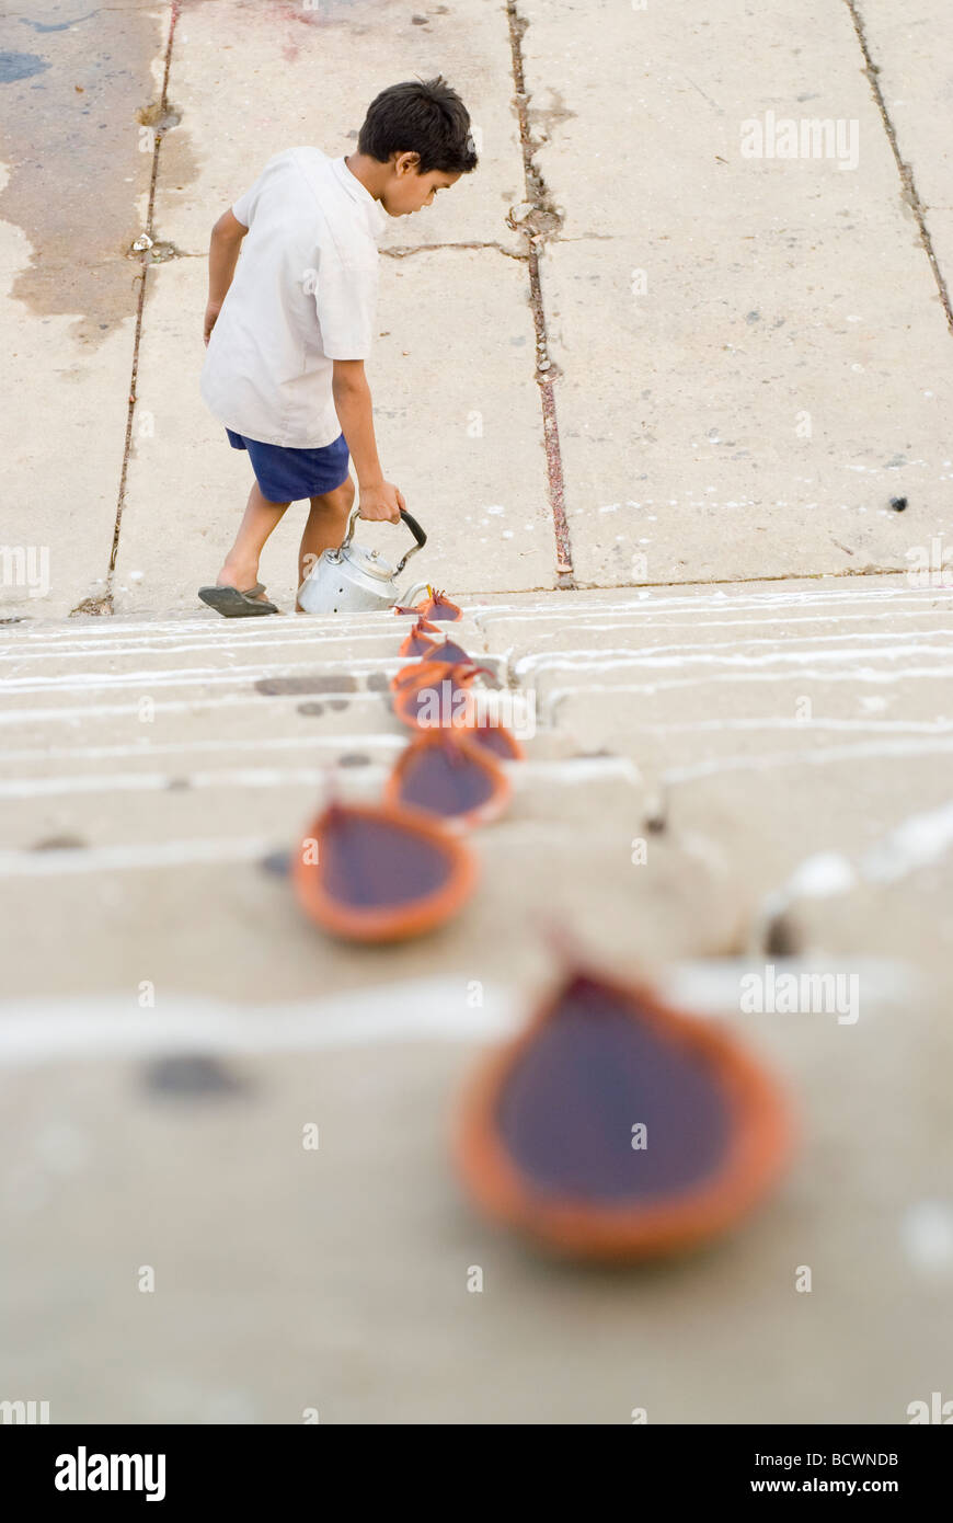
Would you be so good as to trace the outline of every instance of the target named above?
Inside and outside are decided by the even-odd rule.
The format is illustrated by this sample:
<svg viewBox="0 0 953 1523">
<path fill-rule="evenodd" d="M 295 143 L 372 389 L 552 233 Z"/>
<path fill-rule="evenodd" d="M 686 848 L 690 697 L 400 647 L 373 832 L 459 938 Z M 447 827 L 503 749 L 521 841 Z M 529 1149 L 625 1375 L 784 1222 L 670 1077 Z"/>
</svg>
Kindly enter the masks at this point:
<svg viewBox="0 0 953 1523">
<path fill-rule="evenodd" d="M 371 101 L 356 154 L 277 154 L 215 224 L 201 391 L 256 477 L 216 585 L 198 592 L 227 618 L 279 612 L 257 579 L 259 557 L 291 503 L 311 501 L 298 586 L 317 556 L 341 544 L 355 500 L 350 458 L 361 518 L 399 521 L 406 504 L 381 469 L 364 375 L 384 213 L 431 206 L 475 168 L 460 96 L 440 75 L 406 81 Z"/>
</svg>

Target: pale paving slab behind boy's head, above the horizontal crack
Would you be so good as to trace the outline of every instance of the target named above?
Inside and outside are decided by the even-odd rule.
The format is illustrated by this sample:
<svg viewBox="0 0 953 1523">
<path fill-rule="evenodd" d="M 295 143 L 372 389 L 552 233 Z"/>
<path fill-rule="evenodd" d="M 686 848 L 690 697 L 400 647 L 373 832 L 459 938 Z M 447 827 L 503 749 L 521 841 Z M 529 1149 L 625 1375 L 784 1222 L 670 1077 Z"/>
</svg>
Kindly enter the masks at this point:
<svg viewBox="0 0 953 1523">
<path fill-rule="evenodd" d="M 499 241 L 519 253 L 505 224 L 524 189 L 505 11 L 475 3 L 414 12 L 397 0 L 183 0 L 169 72 L 181 123 L 163 143 L 161 236 L 204 257 L 212 222 L 273 154 L 298 143 L 350 154 L 379 90 L 437 73 L 467 104 L 480 168 L 445 206 L 437 196 L 388 222 L 382 248 Z"/>
</svg>

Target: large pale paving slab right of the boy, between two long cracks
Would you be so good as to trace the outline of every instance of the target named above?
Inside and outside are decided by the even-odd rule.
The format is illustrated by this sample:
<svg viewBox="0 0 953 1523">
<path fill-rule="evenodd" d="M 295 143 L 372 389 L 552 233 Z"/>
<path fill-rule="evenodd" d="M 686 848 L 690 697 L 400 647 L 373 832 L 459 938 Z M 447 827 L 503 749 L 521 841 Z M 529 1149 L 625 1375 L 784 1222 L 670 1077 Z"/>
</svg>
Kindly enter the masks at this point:
<svg viewBox="0 0 953 1523">
<path fill-rule="evenodd" d="M 521 14 L 580 583 L 903 568 L 948 525 L 950 334 L 848 8 Z M 769 111 L 845 152 L 746 157 Z"/>
</svg>

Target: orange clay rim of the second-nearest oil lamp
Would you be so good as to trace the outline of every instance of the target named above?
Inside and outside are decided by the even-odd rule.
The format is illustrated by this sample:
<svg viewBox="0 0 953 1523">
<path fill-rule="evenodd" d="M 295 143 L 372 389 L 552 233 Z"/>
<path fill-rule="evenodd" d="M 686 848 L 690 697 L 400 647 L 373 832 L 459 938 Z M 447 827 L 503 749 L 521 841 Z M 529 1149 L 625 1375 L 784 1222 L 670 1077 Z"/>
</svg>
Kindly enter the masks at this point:
<svg viewBox="0 0 953 1523">
<path fill-rule="evenodd" d="M 376 819 L 382 824 L 399 825 L 413 835 L 426 836 L 440 850 L 449 864 L 446 882 L 431 894 L 420 899 L 403 900 L 399 905 L 385 905 L 361 909 L 355 905 L 344 905 L 324 891 L 323 870 L 320 862 L 320 841 L 327 815 L 339 809 L 349 815 L 362 815 L 365 819 Z M 440 825 L 432 815 L 397 807 L 394 804 L 330 804 L 318 815 L 303 841 L 318 841 L 318 862 L 304 862 L 301 848 L 294 854 L 292 883 L 298 903 L 304 912 L 324 931 L 344 937 L 350 941 L 403 941 L 410 937 L 423 935 L 435 926 L 443 924 L 451 915 L 466 903 L 476 886 L 476 859 L 464 842 Z"/>
</svg>

